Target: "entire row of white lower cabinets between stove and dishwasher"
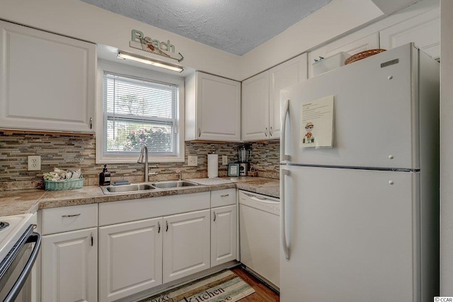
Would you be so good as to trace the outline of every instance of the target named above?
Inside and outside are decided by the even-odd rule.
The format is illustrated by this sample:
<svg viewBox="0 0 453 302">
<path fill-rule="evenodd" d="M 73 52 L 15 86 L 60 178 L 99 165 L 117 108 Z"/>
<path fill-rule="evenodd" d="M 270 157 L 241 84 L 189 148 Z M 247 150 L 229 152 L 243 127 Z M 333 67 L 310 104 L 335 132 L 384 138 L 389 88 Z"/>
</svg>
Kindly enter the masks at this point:
<svg viewBox="0 0 453 302">
<path fill-rule="evenodd" d="M 236 223 L 236 189 L 44 209 L 41 301 L 127 301 L 236 260 Z"/>
</svg>

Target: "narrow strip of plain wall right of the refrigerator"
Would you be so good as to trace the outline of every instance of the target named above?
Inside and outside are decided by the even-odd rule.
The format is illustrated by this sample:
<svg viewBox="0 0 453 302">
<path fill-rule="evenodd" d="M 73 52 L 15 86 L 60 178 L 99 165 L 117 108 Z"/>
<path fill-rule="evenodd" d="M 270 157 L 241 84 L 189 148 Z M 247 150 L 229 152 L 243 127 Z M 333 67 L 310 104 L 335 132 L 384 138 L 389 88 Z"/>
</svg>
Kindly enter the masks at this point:
<svg viewBox="0 0 453 302">
<path fill-rule="evenodd" d="M 453 1 L 440 1 L 440 294 L 453 296 Z"/>
</svg>

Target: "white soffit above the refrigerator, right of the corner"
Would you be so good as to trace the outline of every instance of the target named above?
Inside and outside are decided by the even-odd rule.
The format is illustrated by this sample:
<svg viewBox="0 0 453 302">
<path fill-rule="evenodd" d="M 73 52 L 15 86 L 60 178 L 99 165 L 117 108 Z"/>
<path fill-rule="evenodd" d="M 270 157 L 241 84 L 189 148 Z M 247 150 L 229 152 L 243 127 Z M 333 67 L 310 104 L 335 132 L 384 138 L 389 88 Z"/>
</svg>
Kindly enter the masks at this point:
<svg viewBox="0 0 453 302">
<path fill-rule="evenodd" d="M 336 40 L 339 45 L 349 44 L 420 13 L 439 8 L 439 1 L 333 0 L 280 35 L 244 54 L 241 57 L 242 78 L 247 79 L 297 54 L 319 48 L 319 45 L 336 40 L 338 36 L 344 36 Z M 379 3 L 385 13 L 391 13 L 390 16 L 384 16 L 374 2 Z M 412 4 L 414 2 L 417 3 Z M 405 8 L 393 11 L 401 7 Z M 376 19 L 379 21 L 374 22 Z"/>
</svg>

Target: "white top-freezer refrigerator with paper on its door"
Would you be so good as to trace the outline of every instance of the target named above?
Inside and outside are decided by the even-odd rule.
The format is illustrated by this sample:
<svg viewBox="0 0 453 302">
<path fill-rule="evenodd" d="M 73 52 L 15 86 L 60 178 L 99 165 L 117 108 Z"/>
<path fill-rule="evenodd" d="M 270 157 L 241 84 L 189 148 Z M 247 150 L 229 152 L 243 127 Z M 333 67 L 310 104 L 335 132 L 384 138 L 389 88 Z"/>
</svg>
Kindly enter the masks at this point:
<svg viewBox="0 0 453 302">
<path fill-rule="evenodd" d="M 433 301 L 439 64 L 411 43 L 281 103 L 280 301 Z"/>
</svg>

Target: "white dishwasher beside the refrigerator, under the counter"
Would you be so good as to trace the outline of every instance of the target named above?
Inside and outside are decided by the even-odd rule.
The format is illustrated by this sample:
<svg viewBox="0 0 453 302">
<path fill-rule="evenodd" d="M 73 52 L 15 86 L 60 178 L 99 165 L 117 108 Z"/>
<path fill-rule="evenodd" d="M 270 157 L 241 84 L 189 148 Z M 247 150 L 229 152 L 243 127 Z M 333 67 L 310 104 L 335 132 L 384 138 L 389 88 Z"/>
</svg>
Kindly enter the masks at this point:
<svg viewBox="0 0 453 302">
<path fill-rule="evenodd" d="M 241 262 L 280 288 L 280 200 L 239 190 Z"/>
</svg>

